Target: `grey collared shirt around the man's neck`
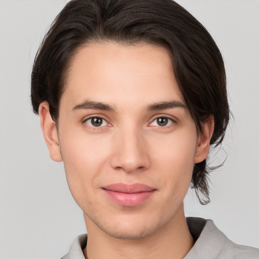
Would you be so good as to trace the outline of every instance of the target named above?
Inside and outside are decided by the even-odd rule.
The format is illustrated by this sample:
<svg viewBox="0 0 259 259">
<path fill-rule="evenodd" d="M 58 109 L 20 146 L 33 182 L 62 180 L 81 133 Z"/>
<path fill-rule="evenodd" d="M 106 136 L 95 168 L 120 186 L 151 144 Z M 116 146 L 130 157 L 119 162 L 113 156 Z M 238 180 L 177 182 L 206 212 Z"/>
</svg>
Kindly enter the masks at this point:
<svg viewBox="0 0 259 259">
<path fill-rule="evenodd" d="M 229 240 L 211 220 L 186 218 L 195 244 L 184 259 L 259 259 L 259 249 Z M 85 259 L 87 234 L 78 236 L 61 259 Z"/>
</svg>

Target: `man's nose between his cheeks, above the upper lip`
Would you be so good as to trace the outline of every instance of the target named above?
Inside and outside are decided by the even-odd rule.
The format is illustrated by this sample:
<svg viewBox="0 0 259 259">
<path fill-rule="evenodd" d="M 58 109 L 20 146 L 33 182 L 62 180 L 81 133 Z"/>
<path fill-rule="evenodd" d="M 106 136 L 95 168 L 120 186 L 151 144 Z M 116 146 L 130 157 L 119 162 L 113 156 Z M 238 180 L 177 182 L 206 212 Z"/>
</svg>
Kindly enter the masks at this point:
<svg viewBox="0 0 259 259">
<path fill-rule="evenodd" d="M 115 134 L 111 166 L 125 172 L 145 170 L 150 166 L 148 143 L 138 128 Z"/>
</svg>

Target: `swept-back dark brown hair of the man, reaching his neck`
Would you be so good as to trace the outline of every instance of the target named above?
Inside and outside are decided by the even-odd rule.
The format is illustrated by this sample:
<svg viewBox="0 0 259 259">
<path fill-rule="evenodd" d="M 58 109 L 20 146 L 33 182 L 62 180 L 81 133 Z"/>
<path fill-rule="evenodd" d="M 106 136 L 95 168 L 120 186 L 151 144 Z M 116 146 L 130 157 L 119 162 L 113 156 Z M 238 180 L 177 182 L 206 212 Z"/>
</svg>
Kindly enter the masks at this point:
<svg viewBox="0 0 259 259">
<path fill-rule="evenodd" d="M 210 144 L 222 143 L 229 122 L 222 55 L 207 30 L 171 0 L 70 1 L 52 23 L 34 60 L 34 112 L 47 101 L 57 123 L 71 57 L 82 45 L 106 41 L 122 45 L 146 42 L 167 49 L 198 131 L 212 114 L 215 124 Z M 202 204 L 209 202 L 208 171 L 206 160 L 195 164 L 193 170 L 192 188 Z"/>
</svg>

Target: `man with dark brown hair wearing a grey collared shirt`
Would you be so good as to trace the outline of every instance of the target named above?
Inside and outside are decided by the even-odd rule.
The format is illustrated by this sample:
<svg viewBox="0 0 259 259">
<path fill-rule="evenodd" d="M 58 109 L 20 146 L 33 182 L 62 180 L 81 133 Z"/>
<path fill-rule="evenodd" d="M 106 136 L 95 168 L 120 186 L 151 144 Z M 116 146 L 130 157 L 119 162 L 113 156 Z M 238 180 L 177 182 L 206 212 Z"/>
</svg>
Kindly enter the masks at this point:
<svg viewBox="0 0 259 259">
<path fill-rule="evenodd" d="M 34 62 L 33 109 L 84 212 L 63 258 L 258 258 L 211 221 L 206 157 L 229 121 L 222 56 L 175 2 L 75 0 Z"/>
</svg>

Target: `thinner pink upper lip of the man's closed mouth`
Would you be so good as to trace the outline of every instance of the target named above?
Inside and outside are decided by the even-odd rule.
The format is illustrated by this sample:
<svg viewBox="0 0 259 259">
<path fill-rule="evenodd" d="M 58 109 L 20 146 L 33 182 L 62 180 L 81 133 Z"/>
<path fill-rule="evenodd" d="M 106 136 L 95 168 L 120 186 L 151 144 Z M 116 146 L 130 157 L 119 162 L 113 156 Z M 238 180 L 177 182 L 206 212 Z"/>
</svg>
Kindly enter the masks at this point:
<svg viewBox="0 0 259 259">
<path fill-rule="evenodd" d="M 103 189 L 113 191 L 113 192 L 121 192 L 121 193 L 139 193 L 139 192 L 150 192 L 155 190 L 154 188 L 145 185 L 145 184 L 110 184 L 104 186 Z"/>
</svg>

